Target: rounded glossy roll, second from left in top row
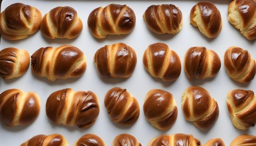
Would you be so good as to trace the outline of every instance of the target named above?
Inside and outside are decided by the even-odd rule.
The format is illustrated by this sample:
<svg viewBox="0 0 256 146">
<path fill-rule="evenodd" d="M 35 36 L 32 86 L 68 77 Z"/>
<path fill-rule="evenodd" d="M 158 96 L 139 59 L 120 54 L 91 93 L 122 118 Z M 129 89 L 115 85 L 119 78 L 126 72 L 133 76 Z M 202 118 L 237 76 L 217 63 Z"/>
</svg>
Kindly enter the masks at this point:
<svg viewBox="0 0 256 146">
<path fill-rule="evenodd" d="M 73 39 L 80 35 L 83 22 L 72 7 L 56 7 L 46 13 L 42 19 L 41 33 L 49 39 Z"/>
</svg>

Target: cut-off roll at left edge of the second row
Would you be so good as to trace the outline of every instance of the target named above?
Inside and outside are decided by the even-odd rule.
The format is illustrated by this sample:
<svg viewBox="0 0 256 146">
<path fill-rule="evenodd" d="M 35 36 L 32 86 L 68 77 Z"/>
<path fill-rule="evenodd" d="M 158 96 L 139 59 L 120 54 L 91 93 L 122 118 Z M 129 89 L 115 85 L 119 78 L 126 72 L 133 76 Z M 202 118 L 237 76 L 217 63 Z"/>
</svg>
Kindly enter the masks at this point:
<svg viewBox="0 0 256 146">
<path fill-rule="evenodd" d="M 13 47 L 0 51 L 0 77 L 12 79 L 24 75 L 30 64 L 30 55 L 25 49 Z"/>
</svg>

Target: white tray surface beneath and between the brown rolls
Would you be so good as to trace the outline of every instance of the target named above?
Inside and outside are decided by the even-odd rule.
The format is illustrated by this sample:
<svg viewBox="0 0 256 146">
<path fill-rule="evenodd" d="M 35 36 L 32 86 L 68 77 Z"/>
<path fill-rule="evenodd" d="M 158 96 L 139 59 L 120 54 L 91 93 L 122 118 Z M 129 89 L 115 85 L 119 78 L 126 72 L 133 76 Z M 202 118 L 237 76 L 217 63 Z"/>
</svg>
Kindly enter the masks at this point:
<svg viewBox="0 0 256 146">
<path fill-rule="evenodd" d="M 256 42 L 255 40 L 247 40 L 240 31 L 236 30 L 227 21 L 227 7 L 230 0 L 211 0 L 216 7 L 220 10 L 222 15 L 223 27 L 221 33 L 217 38 L 209 39 L 202 35 L 198 28 L 189 24 L 190 9 L 199 1 L 196 0 L 169 0 L 169 1 L 100 1 L 100 0 L 22 0 L 22 3 L 29 4 L 38 8 L 42 15 L 58 6 L 70 6 L 76 9 L 78 15 L 83 21 L 83 31 L 78 38 L 73 40 L 56 39 L 49 40 L 44 38 L 40 31 L 36 34 L 29 36 L 24 40 L 9 41 L 1 38 L 0 49 L 7 47 L 16 47 L 18 49 L 27 49 L 31 55 L 40 47 L 46 46 L 61 46 L 63 44 L 72 44 L 81 49 L 87 58 L 87 69 L 85 74 L 76 79 L 56 80 L 54 82 L 47 80 L 46 77 L 38 77 L 31 73 L 30 67 L 27 73 L 22 77 L 3 80 L 0 79 L 0 92 L 10 89 L 19 88 L 24 92 L 33 91 L 36 92 L 41 99 L 41 110 L 38 118 L 33 124 L 28 126 L 16 126 L 7 127 L 0 126 L 0 146 L 12 145 L 18 146 L 27 139 L 38 134 L 53 134 L 59 133 L 63 135 L 67 142 L 72 146 L 74 142 L 82 135 L 87 133 L 96 134 L 103 139 L 107 146 L 112 144 L 113 139 L 121 134 L 128 133 L 137 138 L 142 146 L 148 145 L 148 142 L 161 134 L 173 135 L 175 133 L 192 134 L 195 138 L 201 140 L 202 144 L 205 144 L 209 139 L 220 137 L 223 139 L 226 145 L 242 134 L 256 135 L 255 127 L 251 127 L 248 130 L 242 131 L 235 128 L 229 117 L 227 111 L 226 98 L 227 93 L 233 89 L 241 88 L 256 91 L 256 80 L 253 80 L 250 84 L 242 84 L 231 80 L 227 74 L 223 63 L 223 56 L 225 51 L 230 46 L 239 46 L 246 49 L 251 53 L 252 58 L 256 58 Z M 3 0 L 2 11 L 19 0 Z M 136 14 L 137 21 L 136 27 L 132 33 L 128 35 L 108 35 L 106 39 L 94 38 L 88 29 L 87 19 L 89 13 L 97 7 L 105 7 L 110 3 L 127 4 L 131 7 Z M 183 14 L 183 28 L 176 35 L 164 34 L 157 35 L 152 33 L 146 26 L 143 20 L 143 13 L 151 4 L 175 4 L 180 8 Z M 135 49 L 137 53 L 137 66 L 133 75 L 127 79 L 103 79 L 99 77 L 96 67 L 93 62 L 93 55 L 97 49 L 107 44 L 114 44 L 118 42 L 124 42 Z M 207 49 L 216 51 L 220 56 L 222 66 L 216 77 L 208 78 L 205 80 L 189 80 L 184 73 L 175 82 L 163 82 L 161 79 L 151 77 L 150 74 L 144 69 L 142 63 L 142 56 L 149 44 L 162 42 L 167 44 L 178 55 L 180 55 L 182 64 L 184 53 L 191 46 L 205 46 Z M 181 108 L 181 95 L 189 86 L 202 86 L 207 89 L 211 96 L 218 102 L 219 105 L 219 118 L 216 124 L 209 130 L 200 130 L 196 128 L 191 122 L 187 122 L 184 119 L 184 115 Z M 140 115 L 137 122 L 132 126 L 121 126 L 112 122 L 104 107 L 104 95 L 113 87 L 126 88 L 132 95 L 134 95 L 140 106 Z M 53 125 L 47 119 L 45 114 L 45 102 L 47 97 L 54 91 L 64 88 L 72 88 L 74 91 L 93 91 L 97 94 L 100 104 L 100 113 L 94 125 L 86 129 L 79 129 L 76 126 L 69 127 L 65 125 Z M 178 116 L 173 127 L 166 131 L 160 131 L 157 128 L 151 126 L 151 124 L 145 119 L 143 113 L 143 104 L 146 93 L 153 89 L 159 88 L 168 91 L 173 94 L 177 103 Z"/>
</svg>

